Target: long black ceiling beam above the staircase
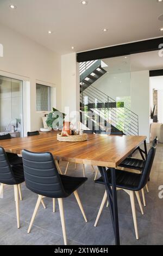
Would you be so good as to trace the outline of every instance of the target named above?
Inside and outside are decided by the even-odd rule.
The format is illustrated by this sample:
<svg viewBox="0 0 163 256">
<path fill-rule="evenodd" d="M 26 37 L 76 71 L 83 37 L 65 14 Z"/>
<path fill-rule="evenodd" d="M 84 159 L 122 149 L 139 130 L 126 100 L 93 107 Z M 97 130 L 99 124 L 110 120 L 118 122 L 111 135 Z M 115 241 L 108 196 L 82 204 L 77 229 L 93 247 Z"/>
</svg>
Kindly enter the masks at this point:
<svg viewBox="0 0 163 256">
<path fill-rule="evenodd" d="M 80 52 L 77 53 L 77 62 L 87 62 L 95 59 L 113 58 L 140 52 L 156 51 L 159 50 L 160 44 L 163 44 L 163 37 Z"/>
</svg>

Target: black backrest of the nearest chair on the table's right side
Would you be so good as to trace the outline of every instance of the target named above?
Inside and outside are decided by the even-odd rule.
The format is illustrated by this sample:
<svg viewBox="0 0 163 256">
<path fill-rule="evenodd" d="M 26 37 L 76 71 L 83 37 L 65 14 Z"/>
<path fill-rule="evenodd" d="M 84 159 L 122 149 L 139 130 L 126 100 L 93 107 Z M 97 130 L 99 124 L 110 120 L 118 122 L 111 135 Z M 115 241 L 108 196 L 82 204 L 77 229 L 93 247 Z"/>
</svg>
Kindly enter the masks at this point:
<svg viewBox="0 0 163 256">
<path fill-rule="evenodd" d="M 149 151 L 148 151 L 146 163 L 142 170 L 138 190 L 141 190 L 141 188 L 143 188 L 148 182 L 149 175 L 151 173 L 151 169 L 152 169 L 152 165 L 153 165 L 153 161 L 154 161 L 154 157 L 155 157 L 155 152 L 156 152 L 156 143 L 153 143 L 151 149 L 149 149 Z"/>
</svg>

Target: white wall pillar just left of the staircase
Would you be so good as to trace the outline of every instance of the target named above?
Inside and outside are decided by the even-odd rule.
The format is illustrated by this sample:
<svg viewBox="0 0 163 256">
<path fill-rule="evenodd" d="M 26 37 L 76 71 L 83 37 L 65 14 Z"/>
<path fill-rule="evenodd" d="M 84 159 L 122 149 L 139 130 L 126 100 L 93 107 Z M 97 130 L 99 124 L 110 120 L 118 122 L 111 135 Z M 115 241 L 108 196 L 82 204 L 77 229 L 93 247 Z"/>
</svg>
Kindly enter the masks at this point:
<svg viewBox="0 0 163 256">
<path fill-rule="evenodd" d="M 76 53 L 61 56 L 61 87 L 62 112 L 66 112 L 67 120 L 72 121 L 73 112 L 80 110 L 79 64 L 76 62 Z M 69 117 L 67 107 L 69 107 Z M 79 120 L 79 117 L 77 119 Z"/>
</svg>

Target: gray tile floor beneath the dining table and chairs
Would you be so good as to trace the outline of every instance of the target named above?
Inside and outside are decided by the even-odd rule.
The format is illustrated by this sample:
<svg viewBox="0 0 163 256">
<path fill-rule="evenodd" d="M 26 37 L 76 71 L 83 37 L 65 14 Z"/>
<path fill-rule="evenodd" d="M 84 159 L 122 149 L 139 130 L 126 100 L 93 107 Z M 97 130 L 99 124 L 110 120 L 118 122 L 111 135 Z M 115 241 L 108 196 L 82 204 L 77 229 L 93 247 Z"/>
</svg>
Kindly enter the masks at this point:
<svg viewBox="0 0 163 256">
<path fill-rule="evenodd" d="M 139 155 L 135 155 L 139 156 Z M 141 215 L 136 203 L 139 240 L 135 238 L 133 218 L 129 196 L 118 191 L 118 211 L 120 222 L 120 239 L 122 245 L 163 245 L 163 199 L 159 199 L 159 186 L 163 185 L 163 144 L 158 145 L 155 161 L 148 184 L 149 193 L 145 193 L 147 206 L 145 215 Z M 66 163 L 61 163 L 64 170 Z M 82 176 L 82 165 L 70 164 L 67 175 Z M 114 245 L 109 208 L 104 208 L 97 227 L 95 223 L 99 205 L 104 194 L 104 186 L 95 184 L 92 169 L 86 166 L 87 182 L 79 188 L 79 196 L 88 219 L 85 223 L 74 196 L 64 199 L 66 232 L 69 245 Z M 45 198 L 47 209 L 40 205 L 39 212 L 30 234 L 27 234 L 30 218 L 36 204 L 37 196 L 22 185 L 23 200 L 20 202 L 21 228 L 17 229 L 14 190 L 4 187 L 4 198 L 0 199 L 0 245 L 62 245 L 62 229 L 58 202 L 56 212 L 52 212 L 52 199 Z"/>
</svg>

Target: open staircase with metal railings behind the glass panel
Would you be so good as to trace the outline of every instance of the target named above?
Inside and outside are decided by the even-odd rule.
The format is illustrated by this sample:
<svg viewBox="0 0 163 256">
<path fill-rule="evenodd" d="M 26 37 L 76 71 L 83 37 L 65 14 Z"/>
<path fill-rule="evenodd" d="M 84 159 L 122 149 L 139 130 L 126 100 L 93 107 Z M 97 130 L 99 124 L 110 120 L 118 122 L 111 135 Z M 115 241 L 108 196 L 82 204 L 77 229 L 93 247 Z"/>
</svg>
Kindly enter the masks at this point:
<svg viewBox="0 0 163 256">
<path fill-rule="evenodd" d="M 106 71 L 101 67 L 101 60 L 80 63 L 82 123 L 89 127 L 91 121 L 92 129 L 99 132 L 106 132 L 107 127 L 111 127 L 114 130 L 123 131 L 125 135 L 139 135 L 137 114 L 124 106 L 118 107 L 114 99 L 93 86 L 93 83 L 105 73 Z"/>
</svg>

